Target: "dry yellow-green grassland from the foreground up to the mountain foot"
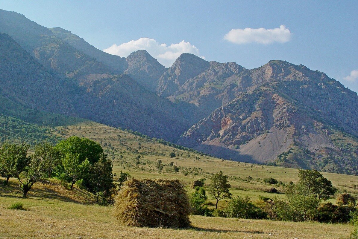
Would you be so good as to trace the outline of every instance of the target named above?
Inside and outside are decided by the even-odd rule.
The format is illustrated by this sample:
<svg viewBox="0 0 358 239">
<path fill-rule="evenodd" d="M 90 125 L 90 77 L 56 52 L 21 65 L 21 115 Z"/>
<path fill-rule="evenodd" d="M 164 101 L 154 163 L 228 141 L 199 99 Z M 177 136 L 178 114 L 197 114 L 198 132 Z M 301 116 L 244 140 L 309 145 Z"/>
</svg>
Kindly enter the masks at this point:
<svg viewBox="0 0 358 239">
<path fill-rule="evenodd" d="M 46 118 L 46 117 L 45 117 Z M 188 150 L 177 149 L 145 139 L 127 131 L 102 125 L 93 121 L 69 118 L 70 123 L 45 126 L 52 139 L 84 136 L 101 144 L 113 160 L 113 172 L 129 172 L 135 178 L 179 179 L 187 185 L 199 178 L 208 178 L 222 170 L 229 176 L 236 196 L 273 198 L 283 194 L 269 193 L 279 184 L 265 185 L 262 179 L 273 177 L 288 183 L 298 180 L 297 170 L 267 165 L 256 165 L 222 160 Z M 14 140 L 21 141 L 20 139 Z M 174 152 L 175 157 L 169 154 Z M 140 157 L 138 157 L 140 156 Z M 163 171 L 155 164 L 162 161 Z M 237 159 L 234 159 L 237 160 Z M 170 166 L 173 162 L 178 172 Z M 339 191 L 358 195 L 358 176 L 322 173 Z M 115 177 L 116 180 L 116 177 Z M 209 181 L 207 181 L 209 183 Z M 321 224 L 315 222 L 294 223 L 287 221 L 248 220 L 218 217 L 191 216 L 192 227 L 185 229 L 136 228 L 121 226 L 112 215 L 112 206 L 94 205 L 95 196 L 76 187 L 68 190 L 52 181 L 50 185 L 35 184 L 28 198 L 21 198 L 18 182 L 10 179 L 10 185 L 0 186 L 0 238 L 347 238 L 353 226 L 346 224 Z M 209 199 L 211 199 L 209 197 Z M 335 198 L 330 199 L 335 203 Z M 10 210 L 13 203 L 23 203 L 25 211 Z M 211 200 L 214 203 L 214 200 Z M 219 208 L 226 204 L 219 201 Z M 271 234 L 271 235 L 270 235 Z"/>
</svg>

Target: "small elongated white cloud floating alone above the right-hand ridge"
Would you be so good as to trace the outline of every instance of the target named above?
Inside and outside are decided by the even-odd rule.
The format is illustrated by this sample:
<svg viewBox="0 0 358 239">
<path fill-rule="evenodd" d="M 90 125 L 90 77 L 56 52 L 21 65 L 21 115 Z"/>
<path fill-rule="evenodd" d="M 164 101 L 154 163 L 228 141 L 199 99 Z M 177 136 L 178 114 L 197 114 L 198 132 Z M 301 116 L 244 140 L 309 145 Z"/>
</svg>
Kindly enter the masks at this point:
<svg viewBox="0 0 358 239">
<path fill-rule="evenodd" d="M 245 29 L 231 29 L 224 39 L 236 44 L 245 43 L 260 43 L 271 44 L 274 42 L 285 43 L 291 38 L 291 32 L 285 25 L 280 28 L 265 29 L 265 28 L 245 28 Z"/>
</svg>

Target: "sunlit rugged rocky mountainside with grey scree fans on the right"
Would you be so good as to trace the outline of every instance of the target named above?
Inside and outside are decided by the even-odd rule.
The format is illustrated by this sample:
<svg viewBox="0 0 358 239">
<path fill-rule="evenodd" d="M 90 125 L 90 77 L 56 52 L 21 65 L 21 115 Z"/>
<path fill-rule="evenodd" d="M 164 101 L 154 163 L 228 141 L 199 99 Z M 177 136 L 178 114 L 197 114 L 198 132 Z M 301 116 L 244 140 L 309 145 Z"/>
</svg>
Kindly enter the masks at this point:
<svg viewBox="0 0 358 239">
<path fill-rule="evenodd" d="M 333 89 L 342 90 L 336 87 L 333 83 Z M 332 95 L 339 99 L 337 92 Z M 324 117 L 329 115 L 296 99 L 286 83 L 265 84 L 241 93 L 200 120 L 178 143 L 227 159 L 353 173 L 358 165 L 358 138 L 351 123 L 334 124 L 334 118 L 327 120 Z M 351 100 L 358 102 L 357 97 Z M 357 114 L 356 110 L 347 112 L 347 108 L 340 108 L 334 112 L 340 118 Z M 333 104 L 331 109 L 335 109 Z M 346 133 L 348 130 L 354 135 Z"/>
</svg>

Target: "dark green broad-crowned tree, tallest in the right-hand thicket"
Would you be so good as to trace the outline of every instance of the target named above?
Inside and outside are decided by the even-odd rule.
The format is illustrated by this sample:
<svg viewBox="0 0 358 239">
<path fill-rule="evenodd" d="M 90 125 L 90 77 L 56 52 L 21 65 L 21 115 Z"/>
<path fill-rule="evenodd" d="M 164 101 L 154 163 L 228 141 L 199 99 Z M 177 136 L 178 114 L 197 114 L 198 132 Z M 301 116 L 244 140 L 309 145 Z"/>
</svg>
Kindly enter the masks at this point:
<svg viewBox="0 0 358 239">
<path fill-rule="evenodd" d="M 317 199 L 328 200 L 329 196 L 335 192 L 332 182 L 324 178 L 317 170 L 298 170 L 298 186 L 301 187 L 300 191 L 305 195 L 313 195 Z"/>
</svg>

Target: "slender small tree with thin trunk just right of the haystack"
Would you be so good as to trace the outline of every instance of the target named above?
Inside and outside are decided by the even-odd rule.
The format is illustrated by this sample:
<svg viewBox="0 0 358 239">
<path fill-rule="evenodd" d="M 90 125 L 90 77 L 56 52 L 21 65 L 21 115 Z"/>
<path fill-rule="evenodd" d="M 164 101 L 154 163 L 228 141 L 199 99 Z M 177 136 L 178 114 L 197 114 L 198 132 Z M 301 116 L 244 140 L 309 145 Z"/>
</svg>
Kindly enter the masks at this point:
<svg viewBox="0 0 358 239">
<path fill-rule="evenodd" d="M 210 177 L 210 185 L 208 186 L 208 193 L 216 199 L 215 209 L 218 208 L 218 202 L 224 198 L 231 198 L 232 194 L 229 192 L 230 184 L 227 181 L 228 176 L 224 175 L 222 171 L 213 174 Z"/>
</svg>

